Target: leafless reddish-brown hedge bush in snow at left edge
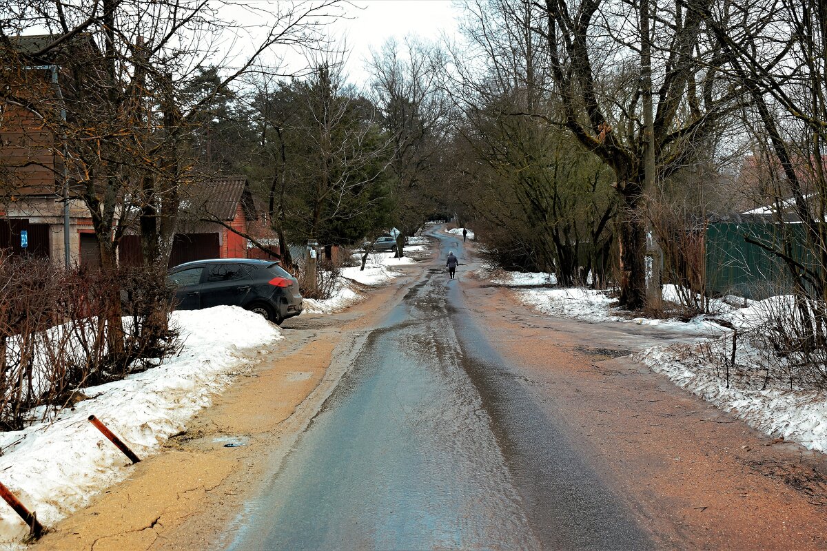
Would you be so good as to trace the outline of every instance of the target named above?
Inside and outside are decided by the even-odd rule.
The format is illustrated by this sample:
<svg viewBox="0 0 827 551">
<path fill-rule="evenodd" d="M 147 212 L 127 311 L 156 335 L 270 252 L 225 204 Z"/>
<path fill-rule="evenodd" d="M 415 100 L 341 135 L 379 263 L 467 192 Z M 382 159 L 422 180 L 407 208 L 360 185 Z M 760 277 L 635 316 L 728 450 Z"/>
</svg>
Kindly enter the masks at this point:
<svg viewBox="0 0 827 551">
<path fill-rule="evenodd" d="M 167 326 L 170 291 L 151 272 L 82 273 L 48 260 L 0 257 L 0 428 L 19 430 L 179 350 Z M 133 315 L 108 327 L 105 297 L 124 289 Z M 162 321 L 162 322 L 161 322 Z M 124 352 L 110 354 L 108 331 Z"/>
</svg>

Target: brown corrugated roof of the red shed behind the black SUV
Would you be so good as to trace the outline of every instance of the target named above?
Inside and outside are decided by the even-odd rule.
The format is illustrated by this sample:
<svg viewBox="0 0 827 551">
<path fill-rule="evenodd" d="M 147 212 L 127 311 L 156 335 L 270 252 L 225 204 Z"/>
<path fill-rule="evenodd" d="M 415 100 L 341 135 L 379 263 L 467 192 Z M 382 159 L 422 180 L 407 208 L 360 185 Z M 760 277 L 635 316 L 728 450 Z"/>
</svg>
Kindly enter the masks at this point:
<svg viewBox="0 0 827 551">
<path fill-rule="evenodd" d="M 215 216 L 222 221 L 232 221 L 241 202 L 247 219 L 256 218 L 246 176 L 219 176 L 194 184 L 188 191 L 190 199 L 185 200 L 182 207 L 191 215 Z"/>
</svg>

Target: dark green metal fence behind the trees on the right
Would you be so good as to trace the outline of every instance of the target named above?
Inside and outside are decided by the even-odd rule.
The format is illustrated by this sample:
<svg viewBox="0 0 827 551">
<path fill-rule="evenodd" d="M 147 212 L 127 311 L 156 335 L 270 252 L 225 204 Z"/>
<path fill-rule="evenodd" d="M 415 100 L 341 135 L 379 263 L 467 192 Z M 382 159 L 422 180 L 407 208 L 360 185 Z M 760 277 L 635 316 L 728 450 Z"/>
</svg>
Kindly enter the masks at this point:
<svg viewBox="0 0 827 551">
<path fill-rule="evenodd" d="M 716 294 L 736 294 L 762 299 L 792 291 L 786 264 L 774 254 L 745 240 L 749 236 L 782 250 L 788 236 L 792 257 L 806 266 L 815 265 L 806 247 L 801 224 L 770 222 L 718 222 L 706 229 L 706 288 Z"/>
</svg>

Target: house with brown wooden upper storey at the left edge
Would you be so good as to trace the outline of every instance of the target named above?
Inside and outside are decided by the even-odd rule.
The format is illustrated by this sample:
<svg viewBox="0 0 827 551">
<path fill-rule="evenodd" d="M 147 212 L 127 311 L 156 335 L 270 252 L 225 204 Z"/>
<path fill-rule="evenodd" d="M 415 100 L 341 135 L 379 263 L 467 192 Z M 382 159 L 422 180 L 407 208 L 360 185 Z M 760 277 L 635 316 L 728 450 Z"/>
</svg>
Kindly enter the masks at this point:
<svg viewBox="0 0 827 551">
<path fill-rule="evenodd" d="M 79 201 L 65 201 L 69 176 L 63 169 L 53 131 L 28 99 L 60 97 L 61 59 L 73 48 L 91 48 L 76 37 L 54 54 L 32 53 L 50 45 L 51 35 L 17 36 L 0 45 L 2 59 L 14 59 L 3 73 L 0 97 L 0 249 L 6 254 L 65 259 L 65 214 L 69 221 L 69 262 L 79 259 L 82 235 L 92 232 L 88 211 Z M 58 101 L 51 107 L 58 108 Z M 65 213 L 64 205 L 69 205 Z M 25 233 L 24 233 L 25 232 Z M 23 236 L 27 246 L 22 245 Z"/>
</svg>

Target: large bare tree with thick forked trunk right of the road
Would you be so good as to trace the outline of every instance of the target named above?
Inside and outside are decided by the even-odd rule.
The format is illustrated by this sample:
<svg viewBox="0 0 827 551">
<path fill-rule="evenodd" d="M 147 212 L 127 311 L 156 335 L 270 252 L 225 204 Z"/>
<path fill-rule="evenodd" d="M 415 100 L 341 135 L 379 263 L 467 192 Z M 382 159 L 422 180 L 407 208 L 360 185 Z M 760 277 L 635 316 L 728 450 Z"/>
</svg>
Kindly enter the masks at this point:
<svg viewBox="0 0 827 551">
<path fill-rule="evenodd" d="M 539 31 L 547 38 L 562 123 L 617 176 L 620 302 L 629 309 L 646 303 L 647 150 L 654 155 L 653 180 L 691 166 L 698 140 L 729 116 L 741 95 L 719 71 L 726 54 L 701 14 L 710 3 L 649 4 L 647 21 L 640 21 L 637 2 L 545 4 L 547 25 Z M 642 105 L 642 83 L 650 75 L 651 134 Z"/>
</svg>

